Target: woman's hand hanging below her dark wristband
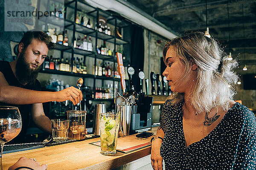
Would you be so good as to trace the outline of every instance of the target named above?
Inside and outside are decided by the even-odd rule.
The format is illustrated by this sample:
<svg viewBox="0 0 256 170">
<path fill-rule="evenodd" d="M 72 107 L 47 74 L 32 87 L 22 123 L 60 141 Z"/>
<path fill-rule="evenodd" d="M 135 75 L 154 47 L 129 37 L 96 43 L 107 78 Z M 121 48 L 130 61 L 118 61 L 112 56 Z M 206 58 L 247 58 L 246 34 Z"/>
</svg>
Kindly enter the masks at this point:
<svg viewBox="0 0 256 170">
<path fill-rule="evenodd" d="M 162 139 L 154 139 L 151 145 L 151 165 L 154 170 L 163 169 L 163 158 L 160 156 L 160 147 L 162 144 Z"/>
</svg>

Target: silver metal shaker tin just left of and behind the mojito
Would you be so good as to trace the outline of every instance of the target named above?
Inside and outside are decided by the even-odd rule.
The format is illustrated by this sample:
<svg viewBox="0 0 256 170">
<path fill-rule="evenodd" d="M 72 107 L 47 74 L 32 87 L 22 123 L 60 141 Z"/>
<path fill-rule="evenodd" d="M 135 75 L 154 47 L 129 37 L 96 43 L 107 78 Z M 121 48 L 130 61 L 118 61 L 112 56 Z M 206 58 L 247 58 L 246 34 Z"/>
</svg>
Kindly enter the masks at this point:
<svg viewBox="0 0 256 170">
<path fill-rule="evenodd" d="M 106 104 L 96 104 L 94 121 L 93 121 L 93 134 L 100 135 L 99 133 L 99 113 L 106 113 Z"/>
</svg>

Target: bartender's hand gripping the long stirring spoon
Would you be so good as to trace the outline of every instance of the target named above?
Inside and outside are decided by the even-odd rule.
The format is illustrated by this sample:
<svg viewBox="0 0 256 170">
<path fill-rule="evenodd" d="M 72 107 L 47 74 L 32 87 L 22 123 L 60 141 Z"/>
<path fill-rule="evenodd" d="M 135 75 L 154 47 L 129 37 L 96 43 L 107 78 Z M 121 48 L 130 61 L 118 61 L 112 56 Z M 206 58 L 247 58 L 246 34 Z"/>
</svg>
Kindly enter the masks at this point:
<svg viewBox="0 0 256 170">
<path fill-rule="evenodd" d="M 71 102 L 73 102 L 73 105 L 76 105 L 80 102 L 80 100 L 83 99 L 83 94 L 82 92 L 71 86 L 69 88 L 65 88 L 62 91 L 57 91 L 55 92 L 56 95 L 56 101 L 57 102 L 63 102 L 66 100 L 70 100 Z"/>
</svg>

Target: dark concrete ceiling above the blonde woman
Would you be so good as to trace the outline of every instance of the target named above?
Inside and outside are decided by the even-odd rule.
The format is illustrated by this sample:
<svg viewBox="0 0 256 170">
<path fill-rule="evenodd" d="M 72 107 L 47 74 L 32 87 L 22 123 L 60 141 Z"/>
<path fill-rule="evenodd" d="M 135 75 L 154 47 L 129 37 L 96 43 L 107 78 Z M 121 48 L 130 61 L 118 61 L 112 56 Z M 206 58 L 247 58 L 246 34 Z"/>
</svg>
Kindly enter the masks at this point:
<svg viewBox="0 0 256 170">
<path fill-rule="evenodd" d="M 227 52 L 254 56 L 246 60 L 256 65 L 256 0 L 207 0 L 207 17 L 206 0 L 127 1 L 178 34 L 186 30 L 205 31 L 207 20 L 209 34 L 226 47 Z"/>
</svg>

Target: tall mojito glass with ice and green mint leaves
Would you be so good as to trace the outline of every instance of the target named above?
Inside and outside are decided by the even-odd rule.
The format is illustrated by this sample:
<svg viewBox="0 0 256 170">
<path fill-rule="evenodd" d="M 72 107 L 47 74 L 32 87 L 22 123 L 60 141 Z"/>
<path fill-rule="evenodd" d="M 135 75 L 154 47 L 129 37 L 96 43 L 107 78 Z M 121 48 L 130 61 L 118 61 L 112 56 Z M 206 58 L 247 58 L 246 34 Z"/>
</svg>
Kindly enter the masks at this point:
<svg viewBox="0 0 256 170">
<path fill-rule="evenodd" d="M 119 113 L 99 113 L 100 146 L 103 155 L 116 154 L 119 122 Z"/>
</svg>

